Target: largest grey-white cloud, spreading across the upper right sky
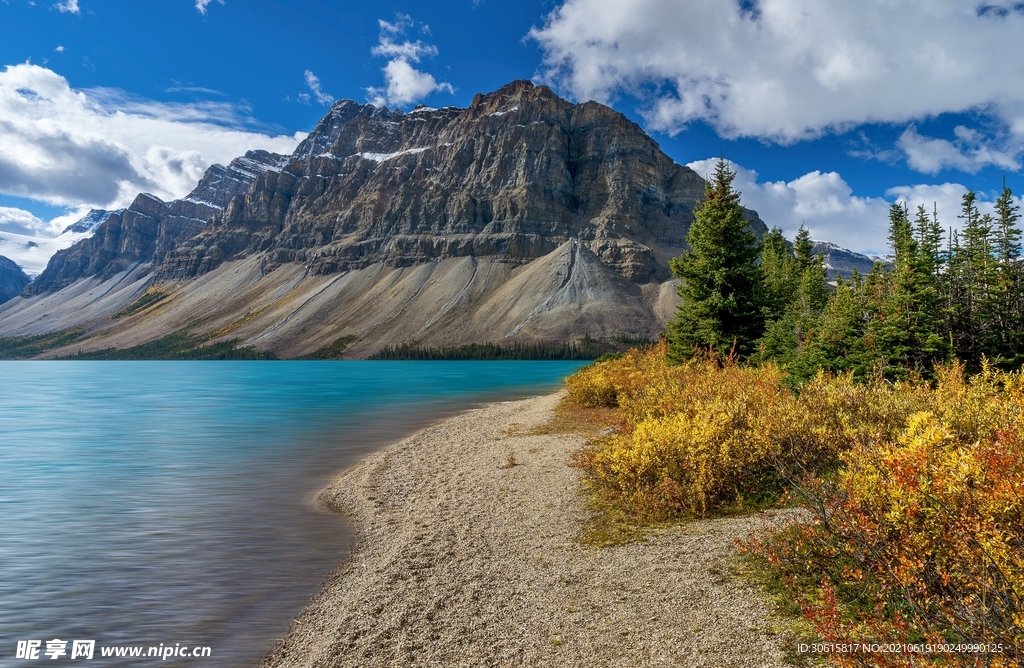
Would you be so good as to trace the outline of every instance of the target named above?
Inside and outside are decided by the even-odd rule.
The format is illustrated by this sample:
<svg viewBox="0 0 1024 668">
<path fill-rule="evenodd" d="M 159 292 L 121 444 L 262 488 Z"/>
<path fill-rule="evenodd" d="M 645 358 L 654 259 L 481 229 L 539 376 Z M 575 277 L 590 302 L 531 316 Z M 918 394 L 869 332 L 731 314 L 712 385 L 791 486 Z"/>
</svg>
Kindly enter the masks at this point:
<svg viewBox="0 0 1024 668">
<path fill-rule="evenodd" d="M 1024 12 L 986 7 L 565 0 L 530 36 L 544 52 L 542 79 L 578 99 L 636 95 L 647 124 L 669 133 L 706 121 L 722 136 L 788 143 L 981 110 L 1021 137 Z"/>
</svg>

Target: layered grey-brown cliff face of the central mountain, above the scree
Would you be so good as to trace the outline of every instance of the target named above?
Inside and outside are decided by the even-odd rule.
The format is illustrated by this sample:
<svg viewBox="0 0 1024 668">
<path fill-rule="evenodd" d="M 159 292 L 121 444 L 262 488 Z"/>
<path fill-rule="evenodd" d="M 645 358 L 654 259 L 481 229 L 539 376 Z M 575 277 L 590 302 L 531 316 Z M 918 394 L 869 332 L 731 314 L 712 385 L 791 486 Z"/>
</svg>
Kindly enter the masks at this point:
<svg viewBox="0 0 1024 668">
<path fill-rule="evenodd" d="M 193 277 L 260 252 L 314 274 L 466 256 L 522 264 L 575 239 L 630 281 L 665 281 L 702 195 L 702 179 L 623 115 L 529 82 L 464 110 L 343 101 L 161 272 Z"/>
</svg>

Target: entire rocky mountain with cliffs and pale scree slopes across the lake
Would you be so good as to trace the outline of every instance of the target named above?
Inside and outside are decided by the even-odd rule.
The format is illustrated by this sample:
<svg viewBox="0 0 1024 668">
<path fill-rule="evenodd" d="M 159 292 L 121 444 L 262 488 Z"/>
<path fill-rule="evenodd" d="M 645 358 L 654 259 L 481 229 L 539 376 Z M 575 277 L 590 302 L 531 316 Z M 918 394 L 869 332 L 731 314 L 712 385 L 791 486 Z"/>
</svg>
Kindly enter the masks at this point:
<svg viewBox="0 0 1024 668">
<path fill-rule="evenodd" d="M 74 327 L 90 350 L 187 330 L 281 357 L 653 337 L 702 197 L 622 114 L 527 81 L 466 109 L 343 100 L 291 156 L 112 214 L 0 306 L 0 335 Z"/>
</svg>

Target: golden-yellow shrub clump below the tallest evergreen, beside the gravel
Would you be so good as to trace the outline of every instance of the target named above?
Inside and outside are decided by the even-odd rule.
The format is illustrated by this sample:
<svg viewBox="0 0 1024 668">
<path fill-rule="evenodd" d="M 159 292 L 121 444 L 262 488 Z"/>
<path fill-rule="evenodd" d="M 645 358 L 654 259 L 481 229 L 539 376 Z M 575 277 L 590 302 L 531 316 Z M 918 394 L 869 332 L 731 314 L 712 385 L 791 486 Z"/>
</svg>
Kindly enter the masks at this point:
<svg viewBox="0 0 1024 668">
<path fill-rule="evenodd" d="M 669 367 L 658 348 L 631 365 L 646 382 L 620 385 L 625 430 L 579 458 L 593 487 L 645 518 L 705 514 L 763 494 L 798 410 L 776 368 L 712 360 Z"/>
</svg>

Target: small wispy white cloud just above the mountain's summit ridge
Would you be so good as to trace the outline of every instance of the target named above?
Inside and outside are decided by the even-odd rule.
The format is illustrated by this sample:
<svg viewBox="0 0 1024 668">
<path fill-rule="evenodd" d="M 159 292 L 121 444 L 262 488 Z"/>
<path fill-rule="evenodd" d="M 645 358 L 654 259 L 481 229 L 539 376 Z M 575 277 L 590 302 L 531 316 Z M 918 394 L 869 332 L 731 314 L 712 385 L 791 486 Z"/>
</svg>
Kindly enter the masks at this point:
<svg viewBox="0 0 1024 668">
<path fill-rule="evenodd" d="M 423 99 L 433 92 L 445 91 L 454 93 L 452 84 L 438 82 L 433 75 L 423 72 L 413 66 L 420 62 L 424 56 L 437 55 L 437 47 L 426 44 L 422 40 L 404 39 L 406 31 L 415 26 L 408 14 L 396 14 L 394 23 L 379 20 L 380 40 L 371 53 L 375 56 L 390 58 L 381 70 L 384 74 L 384 86 L 367 88 L 367 97 L 371 103 L 401 107 Z M 429 34 L 429 29 L 422 30 Z"/>
</svg>

